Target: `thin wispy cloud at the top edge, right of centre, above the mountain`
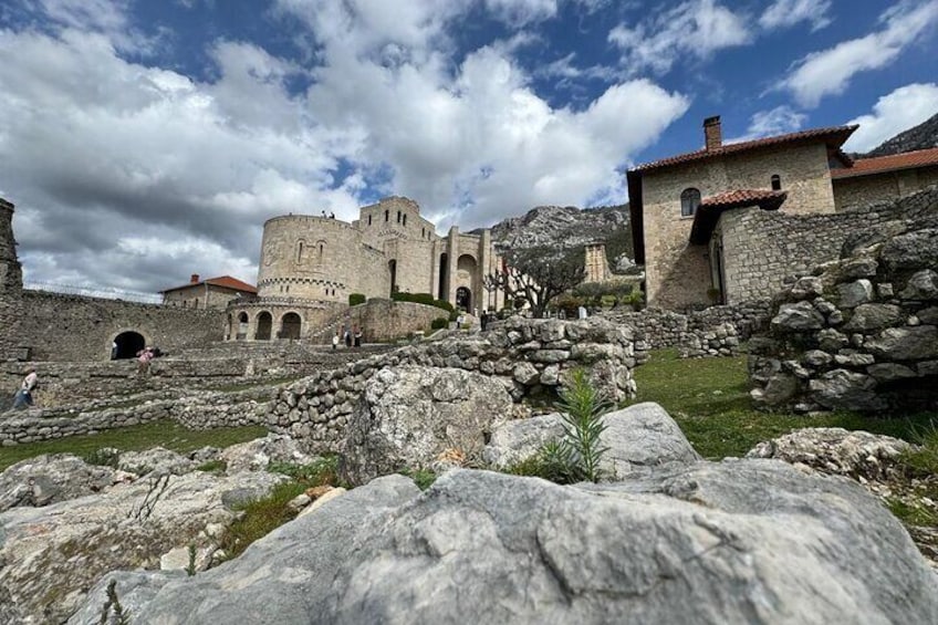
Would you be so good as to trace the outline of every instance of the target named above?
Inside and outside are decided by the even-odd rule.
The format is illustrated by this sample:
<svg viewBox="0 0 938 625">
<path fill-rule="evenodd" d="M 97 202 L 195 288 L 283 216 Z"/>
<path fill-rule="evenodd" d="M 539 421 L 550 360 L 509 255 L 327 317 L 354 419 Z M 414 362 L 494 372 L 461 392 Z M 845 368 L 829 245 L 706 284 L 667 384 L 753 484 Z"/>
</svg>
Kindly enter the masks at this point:
<svg viewBox="0 0 938 625">
<path fill-rule="evenodd" d="M 622 51 L 623 70 L 668 72 L 681 56 L 706 59 L 752 41 L 743 19 L 715 0 L 690 0 L 634 28 L 615 27 L 609 42 Z"/>
</svg>

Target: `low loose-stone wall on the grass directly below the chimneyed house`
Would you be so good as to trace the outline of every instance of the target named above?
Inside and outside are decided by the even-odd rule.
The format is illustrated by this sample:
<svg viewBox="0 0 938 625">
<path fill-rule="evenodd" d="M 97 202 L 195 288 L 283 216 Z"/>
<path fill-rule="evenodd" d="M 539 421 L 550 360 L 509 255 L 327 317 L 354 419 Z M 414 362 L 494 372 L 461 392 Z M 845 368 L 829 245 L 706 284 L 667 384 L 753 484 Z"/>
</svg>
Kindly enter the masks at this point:
<svg viewBox="0 0 938 625">
<path fill-rule="evenodd" d="M 643 350 L 677 348 L 681 357 L 731 356 L 740 342 L 763 330 L 769 322 L 768 300 L 738 305 L 710 306 L 678 313 L 661 309 L 637 312 L 606 312 L 616 323 L 628 325 L 636 346 Z"/>
</svg>

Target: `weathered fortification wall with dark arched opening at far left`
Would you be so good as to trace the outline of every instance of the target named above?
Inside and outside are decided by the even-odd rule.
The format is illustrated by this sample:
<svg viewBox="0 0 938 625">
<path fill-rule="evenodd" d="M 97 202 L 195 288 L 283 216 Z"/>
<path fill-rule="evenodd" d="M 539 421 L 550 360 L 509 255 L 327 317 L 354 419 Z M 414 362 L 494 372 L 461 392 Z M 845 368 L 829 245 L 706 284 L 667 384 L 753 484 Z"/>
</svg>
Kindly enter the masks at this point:
<svg viewBox="0 0 938 625">
<path fill-rule="evenodd" d="M 223 314 L 212 310 L 41 291 L 23 291 L 13 305 L 15 322 L 0 335 L 14 347 L 29 347 L 33 361 L 106 361 L 114 337 L 127 331 L 170 352 L 220 341 L 223 332 Z"/>
</svg>

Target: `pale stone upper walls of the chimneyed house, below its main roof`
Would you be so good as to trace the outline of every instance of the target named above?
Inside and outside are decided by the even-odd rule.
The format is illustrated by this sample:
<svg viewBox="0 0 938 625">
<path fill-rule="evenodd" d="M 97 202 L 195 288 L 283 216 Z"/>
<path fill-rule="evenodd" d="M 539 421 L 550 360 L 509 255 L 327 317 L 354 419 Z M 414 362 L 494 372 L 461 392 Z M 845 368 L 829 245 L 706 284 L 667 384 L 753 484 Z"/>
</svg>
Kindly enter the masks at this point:
<svg viewBox="0 0 938 625">
<path fill-rule="evenodd" d="M 692 217 L 681 217 L 680 195 L 696 188 L 706 198 L 730 189 L 769 189 L 781 178 L 782 212 L 833 212 L 834 197 L 824 146 L 789 146 L 696 163 L 643 176 L 646 292 L 648 303 L 682 309 L 710 303 L 706 246 L 688 242 Z"/>
</svg>

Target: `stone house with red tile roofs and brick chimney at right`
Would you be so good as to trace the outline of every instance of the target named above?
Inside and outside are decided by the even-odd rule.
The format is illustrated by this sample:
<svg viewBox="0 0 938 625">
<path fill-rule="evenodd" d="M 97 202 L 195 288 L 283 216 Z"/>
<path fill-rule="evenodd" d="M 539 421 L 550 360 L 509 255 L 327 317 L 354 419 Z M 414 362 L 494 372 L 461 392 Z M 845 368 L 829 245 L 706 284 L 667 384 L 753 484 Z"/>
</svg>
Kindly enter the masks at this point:
<svg viewBox="0 0 938 625">
<path fill-rule="evenodd" d="M 817 259 L 795 262 L 795 248 L 812 254 L 783 240 L 779 253 L 737 254 L 740 241 L 730 240 L 722 227 L 727 219 L 753 210 L 792 218 L 835 215 L 938 183 L 938 149 L 853 160 L 841 147 L 856 128 L 723 144 L 720 118 L 710 117 L 702 149 L 629 169 L 633 242 L 636 262 L 645 265 L 648 305 L 679 310 L 764 298 L 780 284 L 780 272 L 830 260 L 825 249 Z M 744 236 L 744 229 L 730 230 Z"/>
</svg>

